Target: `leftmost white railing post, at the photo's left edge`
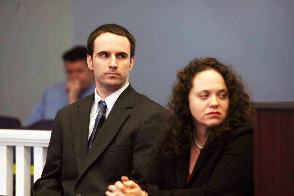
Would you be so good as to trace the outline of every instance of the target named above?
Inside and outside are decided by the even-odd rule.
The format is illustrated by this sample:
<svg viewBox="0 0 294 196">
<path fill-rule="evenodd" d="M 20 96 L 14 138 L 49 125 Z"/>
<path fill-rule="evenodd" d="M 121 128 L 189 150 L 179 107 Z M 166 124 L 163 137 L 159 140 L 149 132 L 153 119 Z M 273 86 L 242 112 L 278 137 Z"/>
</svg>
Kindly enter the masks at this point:
<svg viewBox="0 0 294 196">
<path fill-rule="evenodd" d="M 0 145 L 0 194 L 13 194 L 13 147 Z"/>
</svg>

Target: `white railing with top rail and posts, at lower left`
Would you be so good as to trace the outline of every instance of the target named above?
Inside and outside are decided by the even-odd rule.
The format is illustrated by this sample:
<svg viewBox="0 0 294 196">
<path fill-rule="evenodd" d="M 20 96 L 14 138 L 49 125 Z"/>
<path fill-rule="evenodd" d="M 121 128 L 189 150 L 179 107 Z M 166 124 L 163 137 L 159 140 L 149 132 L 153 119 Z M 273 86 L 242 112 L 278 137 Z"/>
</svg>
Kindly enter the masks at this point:
<svg viewBox="0 0 294 196">
<path fill-rule="evenodd" d="M 0 195 L 13 195 L 13 146 L 15 195 L 31 194 L 31 146 L 34 147 L 34 182 L 41 177 L 51 131 L 0 129 Z"/>
</svg>

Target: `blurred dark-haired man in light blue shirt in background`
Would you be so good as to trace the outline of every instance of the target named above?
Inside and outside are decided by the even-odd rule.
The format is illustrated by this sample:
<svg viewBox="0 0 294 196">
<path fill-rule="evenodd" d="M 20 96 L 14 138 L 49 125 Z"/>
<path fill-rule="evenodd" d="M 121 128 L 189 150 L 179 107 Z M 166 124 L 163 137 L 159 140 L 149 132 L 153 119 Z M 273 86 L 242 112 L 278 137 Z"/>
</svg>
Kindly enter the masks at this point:
<svg viewBox="0 0 294 196">
<path fill-rule="evenodd" d="M 91 95 L 95 88 L 94 72 L 87 66 L 87 48 L 77 46 L 63 56 L 67 81 L 51 85 L 33 107 L 24 126 L 41 120 L 54 120 L 62 107 Z"/>
</svg>

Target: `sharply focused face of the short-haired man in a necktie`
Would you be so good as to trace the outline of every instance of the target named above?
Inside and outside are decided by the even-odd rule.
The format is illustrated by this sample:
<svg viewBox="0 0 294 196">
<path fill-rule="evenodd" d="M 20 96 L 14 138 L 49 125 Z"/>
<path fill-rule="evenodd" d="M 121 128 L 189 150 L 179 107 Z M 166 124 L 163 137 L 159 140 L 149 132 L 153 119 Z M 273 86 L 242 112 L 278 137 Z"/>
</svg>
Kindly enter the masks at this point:
<svg viewBox="0 0 294 196">
<path fill-rule="evenodd" d="M 93 58 L 87 56 L 94 70 L 97 92 L 115 92 L 129 81 L 134 56 L 130 58 L 130 41 L 124 36 L 102 33 L 94 41 Z"/>
</svg>

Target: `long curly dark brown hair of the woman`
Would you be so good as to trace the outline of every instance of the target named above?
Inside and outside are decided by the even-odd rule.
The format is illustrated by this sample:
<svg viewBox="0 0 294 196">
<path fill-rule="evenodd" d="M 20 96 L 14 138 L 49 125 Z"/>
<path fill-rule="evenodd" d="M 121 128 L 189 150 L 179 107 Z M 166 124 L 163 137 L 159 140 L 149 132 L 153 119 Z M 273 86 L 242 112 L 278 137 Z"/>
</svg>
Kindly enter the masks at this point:
<svg viewBox="0 0 294 196">
<path fill-rule="evenodd" d="M 242 78 L 232 70 L 232 66 L 224 65 L 216 58 L 195 58 L 183 70 L 178 71 L 171 101 L 168 102 L 169 120 L 164 141 L 164 155 L 168 160 L 175 160 L 190 151 L 191 141 L 194 141 L 194 124 L 188 96 L 194 76 L 208 69 L 216 70 L 224 78 L 229 92 L 229 109 L 228 116 L 222 123 L 207 129 L 208 139 L 201 151 L 209 152 L 225 135 L 240 126 L 252 123 L 250 97 L 244 92 Z"/>
</svg>

